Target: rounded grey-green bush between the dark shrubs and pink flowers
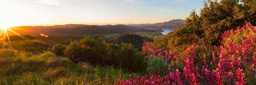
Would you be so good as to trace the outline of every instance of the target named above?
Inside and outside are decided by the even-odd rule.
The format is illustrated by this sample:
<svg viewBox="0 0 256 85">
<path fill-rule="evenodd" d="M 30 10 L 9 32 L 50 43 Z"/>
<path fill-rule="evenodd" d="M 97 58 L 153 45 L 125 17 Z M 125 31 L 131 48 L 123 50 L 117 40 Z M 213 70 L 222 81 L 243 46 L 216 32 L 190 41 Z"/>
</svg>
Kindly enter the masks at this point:
<svg viewBox="0 0 256 85">
<path fill-rule="evenodd" d="M 151 57 L 148 61 L 147 70 L 151 73 L 163 75 L 168 73 L 168 63 L 161 57 Z"/>
</svg>

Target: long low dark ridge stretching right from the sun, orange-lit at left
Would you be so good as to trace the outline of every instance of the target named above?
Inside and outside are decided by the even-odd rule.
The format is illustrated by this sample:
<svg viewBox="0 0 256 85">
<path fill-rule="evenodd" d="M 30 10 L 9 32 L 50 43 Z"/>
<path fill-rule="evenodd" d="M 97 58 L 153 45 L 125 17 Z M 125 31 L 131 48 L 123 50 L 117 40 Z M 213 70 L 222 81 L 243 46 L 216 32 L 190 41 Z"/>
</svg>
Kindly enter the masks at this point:
<svg viewBox="0 0 256 85">
<path fill-rule="evenodd" d="M 83 26 L 83 27 L 56 27 L 56 26 L 19 26 L 12 30 L 20 34 L 30 35 L 59 35 L 59 34 L 124 34 L 130 32 L 154 32 L 148 29 L 133 28 L 132 26 Z M 11 32 L 9 34 L 12 34 Z"/>
</svg>

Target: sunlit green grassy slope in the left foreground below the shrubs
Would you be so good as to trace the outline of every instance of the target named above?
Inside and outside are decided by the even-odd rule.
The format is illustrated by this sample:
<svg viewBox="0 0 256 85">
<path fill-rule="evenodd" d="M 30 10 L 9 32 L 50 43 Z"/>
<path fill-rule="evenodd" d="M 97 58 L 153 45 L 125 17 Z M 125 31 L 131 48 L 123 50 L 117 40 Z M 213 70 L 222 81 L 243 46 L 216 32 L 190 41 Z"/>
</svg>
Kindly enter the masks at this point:
<svg viewBox="0 0 256 85">
<path fill-rule="evenodd" d="M 128 79 L 133 74 L 109 66 L 75 64 L 51 52 L 32 55 L 0 49 L 0 85 L 113 85 L 119 76 Z"/>
</svg>

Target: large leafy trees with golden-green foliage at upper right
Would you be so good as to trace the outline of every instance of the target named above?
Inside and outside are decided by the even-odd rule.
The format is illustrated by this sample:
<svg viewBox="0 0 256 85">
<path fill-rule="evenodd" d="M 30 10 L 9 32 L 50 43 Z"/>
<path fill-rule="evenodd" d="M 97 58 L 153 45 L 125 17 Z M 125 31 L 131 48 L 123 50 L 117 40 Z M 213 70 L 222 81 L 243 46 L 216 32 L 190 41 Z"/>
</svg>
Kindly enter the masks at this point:
<svg viewBox="0 0 256 85">
<path fill-rule="evenodd" d="M 221 34 L 244 21 L 256 25 L 255 0 L 207 0 L 199 14 L 193 10 L 185 25 L 157 40 L 154 45 L 167 45 L 172 51 L 184 51 L 190 44 L 220 45 Z"/>
</svg>

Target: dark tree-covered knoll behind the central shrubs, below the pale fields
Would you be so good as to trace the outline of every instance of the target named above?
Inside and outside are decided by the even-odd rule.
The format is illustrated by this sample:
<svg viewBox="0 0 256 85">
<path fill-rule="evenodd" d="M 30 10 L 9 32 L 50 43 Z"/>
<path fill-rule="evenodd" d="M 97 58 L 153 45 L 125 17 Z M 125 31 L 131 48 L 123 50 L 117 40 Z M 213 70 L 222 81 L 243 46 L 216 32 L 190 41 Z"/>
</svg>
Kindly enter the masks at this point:
<svg viewBox="0 0 256 85">
<path fill-rule="evenodd" d="M 143 37 L 143 36 L 140 36 L 138 34 L 130 33 L 130 34 L 120 34 L 116 38 L 112 39 L 110 42 L 111 43 L 116 43 L 116 44 L 119 44 L 119 45 L 121 45 L 122 42 L 123 43 L 131 43 L 136 48 L 138 48 L 139 51 L 142 51 L 143 41 L 153 42 L 154 40 L 152 40 L 149 37 Z"/>
</svg>

